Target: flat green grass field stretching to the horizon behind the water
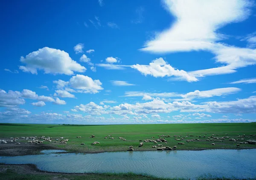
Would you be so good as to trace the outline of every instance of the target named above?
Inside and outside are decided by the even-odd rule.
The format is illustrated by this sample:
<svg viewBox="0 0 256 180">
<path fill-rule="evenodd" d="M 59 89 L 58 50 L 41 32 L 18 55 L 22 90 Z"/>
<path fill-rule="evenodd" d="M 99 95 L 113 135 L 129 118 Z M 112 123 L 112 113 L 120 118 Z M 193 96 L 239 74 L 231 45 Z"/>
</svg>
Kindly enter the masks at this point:
<svg viewBox="0 0 256 180">
<path fill-rule="evenodd" d="M 228 135 L 225 135 L 225 134 Z M 95 138 L 90 138 L 90 135 L 95 135 Z M 193 137 L 186 138 L 185 140 L 176 141 L 173 135 L 186 136 L 194 135 Z M 206 138 L 199 138 L 196 136 L 206 135 Z M 67 144 L 44 142 L 55 146 L 59 149 L 65 149 L 70 152 L 104 152 L 104 151 L 126 151 L 128 146 L 134 146 L 134 151 L 138 150 L 156 150 L 151 148 L 153 142 L 144 143 L 143 147 L 138 147 L 139 140 L 158 138 L 158 135 L 170 135 L 171 137 L 165 138 L 168 143 L 163 146 L 177 146 L 178 149 L 204 149 L 204 148 L 227 148 L 235 149 L 236 143 L 229 141 L 228 139 L 223 142 L 206 141 L 211 134 L 215 134 L 215 137 L 228 136 L 230 138 L 237 138 L 237 135 L 256 134 L 256 123 L 220 123 L 220 124 L 138 124 L 138 125 L 53 125 L 53 124 L 0 124 L 0 139 L 10 137 L 29 137 L 29 136 L 46 136 L 52 137 L 54 141 L 61 136 L 64 139 L 69 139 Z M 216 134 L 219 134 L 216 136 Z M 113 140 L 104 139 L 105 136 L 112 135 Z M 81 136 L 81 138 L 76 138 Z M 122 141 L 118 137 L 125 138 L 127 141 Z M 251 138 L 244 138 L 246 141 L 256 140 L 256 136 L 250 136 Z M 187 143 L 188 139 L 200 139 L 201 141 L 195 141 Z M 27 140 L 19 139 L 18 142 L 26 142 Z M 99 141 L 100 144 L 91 145 L 94 141 Z M 178 142 L 184 142 L 184 145 L 178 145 Z M 237 143 L 239 143 L 238 141 Z M 85 143 L 85 145 L 80 145 Z M 215 146 L 211 144 L 215 143 Z M 1 146 L 1 144 L 0 144 Z M 18 146 L 18 145 L 17 145 Z M 41 144 L 38 144 L 41 146 Z M 252 148 L 256 145 L 240 144 L 240 148 Z"/>
</svg>

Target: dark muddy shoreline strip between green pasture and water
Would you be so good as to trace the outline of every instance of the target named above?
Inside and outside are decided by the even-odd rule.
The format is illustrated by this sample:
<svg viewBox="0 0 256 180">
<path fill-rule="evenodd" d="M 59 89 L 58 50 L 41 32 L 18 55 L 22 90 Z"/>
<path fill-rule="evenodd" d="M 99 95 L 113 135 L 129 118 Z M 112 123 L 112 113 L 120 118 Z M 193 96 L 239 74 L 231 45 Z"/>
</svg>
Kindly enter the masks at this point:
<svg viewBox="0 0 256 180">
<path fill-rule="evenodd" d="M 55 146 L 46 145 L 46 144 L 24 144 L 24 145 L 16 145 L 16 144 L 1 144 L 0 146 L 0 156 L 23 156 L 23 155 L 38 155 L 42 154 L 42 150 L 52 150 L 52 149 L 59 149 L 59 150 L 67 150 L 65 148 L 57 148 Z M 256 149 L 256 146 L 254 147 L 247 147 L 247 148 L 200 148 L 200 149 L 177 149 L 178 151 L 201 151 L 201 150 L 207 150 L 207 149 Z M 72 151 L 67 150 L 67 152 L 61 152 L 61 153 L 102 153 L 102 152 L 125 152 L 125 150 L 98 150 L 98 151 Z M 156 149 L 136 149 L 135 151 L 156 151 Z"/>
</svg>

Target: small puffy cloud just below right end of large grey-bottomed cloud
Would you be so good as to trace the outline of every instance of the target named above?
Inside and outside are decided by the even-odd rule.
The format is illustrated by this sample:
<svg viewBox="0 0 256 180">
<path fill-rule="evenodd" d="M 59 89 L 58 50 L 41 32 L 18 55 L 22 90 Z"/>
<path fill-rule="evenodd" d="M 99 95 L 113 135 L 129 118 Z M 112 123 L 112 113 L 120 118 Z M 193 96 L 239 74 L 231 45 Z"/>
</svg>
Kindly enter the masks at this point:
<svg viewBox="0 0 256 180">
<path fill-rule="evenodd" d="M 102 83 L 97 80 L 93 80 L 88 76 L 77 74 L 73 76 L 69 81 L 70 87 L 78 90 L 82 90 L 83 93 L 99 93 L 99 90 L 103 90 Z"/>
</svg>

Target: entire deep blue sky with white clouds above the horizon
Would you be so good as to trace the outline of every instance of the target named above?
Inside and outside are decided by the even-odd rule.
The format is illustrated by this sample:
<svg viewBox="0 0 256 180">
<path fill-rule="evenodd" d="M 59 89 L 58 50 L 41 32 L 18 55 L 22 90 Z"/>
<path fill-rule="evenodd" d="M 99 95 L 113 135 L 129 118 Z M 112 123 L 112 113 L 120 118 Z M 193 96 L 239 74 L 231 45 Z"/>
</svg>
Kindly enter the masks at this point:
<svg viewBox="0 0 256 180">
<path fill-rule="evenodd" d="M 256 2 L 1 1 L 0 122 L 256 121 Z"/>
</svg>

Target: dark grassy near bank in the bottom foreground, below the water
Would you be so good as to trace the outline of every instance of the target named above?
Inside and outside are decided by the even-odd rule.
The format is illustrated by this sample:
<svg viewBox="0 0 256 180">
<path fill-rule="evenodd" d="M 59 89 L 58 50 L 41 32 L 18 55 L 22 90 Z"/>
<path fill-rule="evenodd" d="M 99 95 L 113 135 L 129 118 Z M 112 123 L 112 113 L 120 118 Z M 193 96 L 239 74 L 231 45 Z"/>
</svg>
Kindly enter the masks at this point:
<svg viewBox="0 0 256 180">
<path fill-rule="evenodd" d="M 58 173 L 39 170 L 34 164 L 0 163 L 0 177 L 4 180 L 183 180 L 180 178 L 159 178 L 134 173 Z M 236 180 L 230 178 L 198 177 L 197 180 Z M 238 179 L 237 179 L 238 180 Z M 250 179 L 256 180 L 256 179 Z"/>
</svg>

